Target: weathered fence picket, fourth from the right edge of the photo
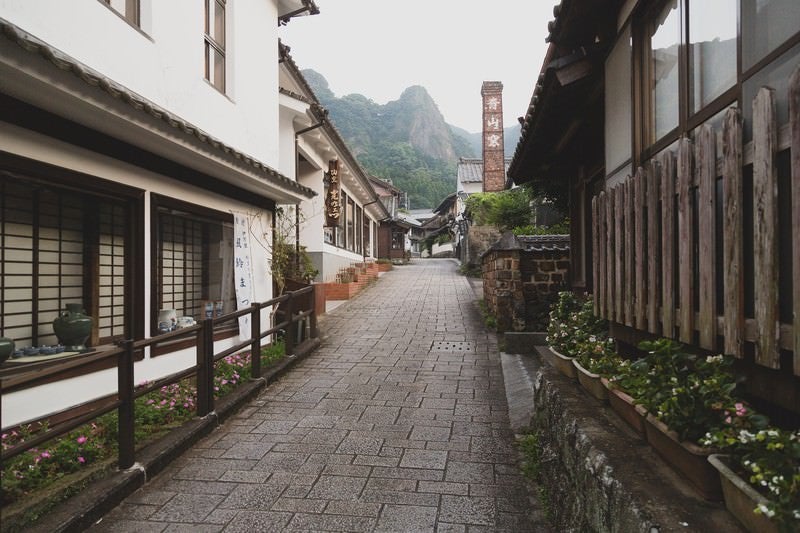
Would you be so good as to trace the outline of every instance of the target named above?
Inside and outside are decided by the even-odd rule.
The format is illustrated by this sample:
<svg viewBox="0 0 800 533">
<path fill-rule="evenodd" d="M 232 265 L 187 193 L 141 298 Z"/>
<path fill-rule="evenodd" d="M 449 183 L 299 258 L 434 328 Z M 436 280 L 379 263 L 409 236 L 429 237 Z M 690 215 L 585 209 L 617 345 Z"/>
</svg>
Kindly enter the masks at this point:
<svg viewBox="0 0 800 533">
<path fill-rule="evenodd" d="M 714 350 L 717 344 L 717 142 L 714 129 L 705 124 L 697 136 L 698 261 L 700 347 Z"/>
</svg>

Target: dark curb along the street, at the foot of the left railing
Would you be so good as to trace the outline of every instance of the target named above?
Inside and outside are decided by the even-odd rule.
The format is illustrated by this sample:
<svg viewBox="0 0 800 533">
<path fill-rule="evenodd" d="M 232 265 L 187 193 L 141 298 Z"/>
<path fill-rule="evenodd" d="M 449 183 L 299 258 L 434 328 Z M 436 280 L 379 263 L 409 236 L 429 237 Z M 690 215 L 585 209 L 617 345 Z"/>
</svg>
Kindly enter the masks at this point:
<svg viewBox="0 0 800 533">
<path fill-rule="evenodd" d="M 297 346 L 293 356 L 286 357 L 271 367 L 259 379 L 251 380 L 233 390 L 217 402 L 214 412 L 203 418 L 190 420 L 165 437 L 137 453 L 133 468 L 117 471 L 92 483 L 86 490 L 58 504 L 45 517 L 27 531 L 72 532 L 83 531 L 135 492 L 148 479 L 164 470 L 173 460 L 214 431 L 240 408 L 258 396 L 269 384 L 276 381 L 299 361 L 308 357 L 320 345 L 320 340 L 309 339 Z"/>
</svg>

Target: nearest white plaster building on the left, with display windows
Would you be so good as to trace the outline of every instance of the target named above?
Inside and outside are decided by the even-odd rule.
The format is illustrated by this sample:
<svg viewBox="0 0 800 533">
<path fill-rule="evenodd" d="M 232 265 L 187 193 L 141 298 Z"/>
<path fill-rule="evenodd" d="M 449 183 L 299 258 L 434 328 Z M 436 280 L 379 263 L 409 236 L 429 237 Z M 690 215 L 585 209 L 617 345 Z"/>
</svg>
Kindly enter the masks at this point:
<svg viewBox="0 0 800 533">
<path fill-rule="evenodd" d="M 3 336 L 55 344 L 53 319 L 80 303 L 102 350 L 158 334 L 162 309 L 200 318 L 208 302 L 230 312 L 271 298 L 262 244 L 275 206 L 316 194 L 280 171 L 278 23 L 317 11 L 312 0 L 0 0 Z M 239 338 L 215 331 L 215 347 Z M 195 357 L 144 353 L 135 380 Z M 113 368 L 4 390 L 2 424 L 114 390 Z"/>
</svg>

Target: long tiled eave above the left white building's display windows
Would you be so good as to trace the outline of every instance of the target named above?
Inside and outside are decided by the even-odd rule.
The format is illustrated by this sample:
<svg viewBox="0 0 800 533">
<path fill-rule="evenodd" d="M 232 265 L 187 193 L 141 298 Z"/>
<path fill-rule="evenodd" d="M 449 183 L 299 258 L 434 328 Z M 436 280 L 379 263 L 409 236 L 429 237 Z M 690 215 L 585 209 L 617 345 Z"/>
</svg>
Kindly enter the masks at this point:
<svg viewBox="0 0 800 533">
<path fill-rule="evenodd" d="M 258 161 L 257 159 L 236 150 L 219 139 L 212 137 L 197 126 L 183 120 L 182 118 L 170 113 L 166 109 L 154 104 L 153 102 L 139 96 L 117 82 L 104 77 L 102 74 L 87 67 L 83 63 L 73 59 L 63 52 L 53 48 L 44 41 L 26 33 L 14 24 L 0 18 L 0 35 L 17 44 L 23 50 L 36 54 L 51 62 L 57 68 L 71 72 L 76 77 L 83 80 L 87 85 L 96 87 L 113 98 L 126 103 L 133 109 L 146 113 L 153 118 L 164 121 L 166 124 L 180 130 L 188 135 L 197 138 L 199 141 L 208 144 L 215 150 L 226 155 L 235 157 L 254 168 L 262 177 L 275 184 L 293 190 L 308 198 L 316 196 L 316 192 L 308 187 L 300 185 L 296 181 L 287 178 L 272 167 Z"/>
</svg>

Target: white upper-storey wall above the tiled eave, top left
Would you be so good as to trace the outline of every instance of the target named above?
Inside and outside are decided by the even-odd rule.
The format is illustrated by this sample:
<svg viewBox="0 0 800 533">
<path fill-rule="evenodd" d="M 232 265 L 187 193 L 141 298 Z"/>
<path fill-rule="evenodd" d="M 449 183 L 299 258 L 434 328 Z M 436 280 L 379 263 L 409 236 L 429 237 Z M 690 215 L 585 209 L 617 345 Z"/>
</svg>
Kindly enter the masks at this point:
<svg viewBox="0 0 800 533">
<path fill-rule="evenodd" d="M 204 79 L 204 8 L 142 0 L 143 32 L 99 0 L 0 0 L 0 16 L 240 151 L 278 165 L 276 0 L 229 2 L 227 94 Z"/>
</svg>

